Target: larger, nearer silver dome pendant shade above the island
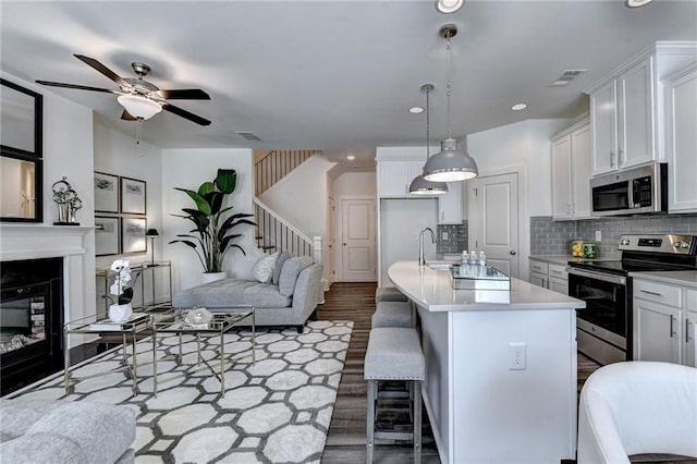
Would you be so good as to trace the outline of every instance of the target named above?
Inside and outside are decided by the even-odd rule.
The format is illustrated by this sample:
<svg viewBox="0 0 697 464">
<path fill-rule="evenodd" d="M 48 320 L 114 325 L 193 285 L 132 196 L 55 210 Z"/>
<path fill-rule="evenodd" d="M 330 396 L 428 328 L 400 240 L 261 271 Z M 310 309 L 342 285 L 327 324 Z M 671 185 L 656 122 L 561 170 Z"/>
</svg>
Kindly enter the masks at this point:
<svg viewBox="0 0 697 464">
<path fill-rule="evenodd" d="M 440 151 L 426 161 L 424 179 L 431 182 L 457 182 L 474 179 L 479 174 L 477 162 L 457 148 L 457 141 L 445 138 Z"/>
</svg>

